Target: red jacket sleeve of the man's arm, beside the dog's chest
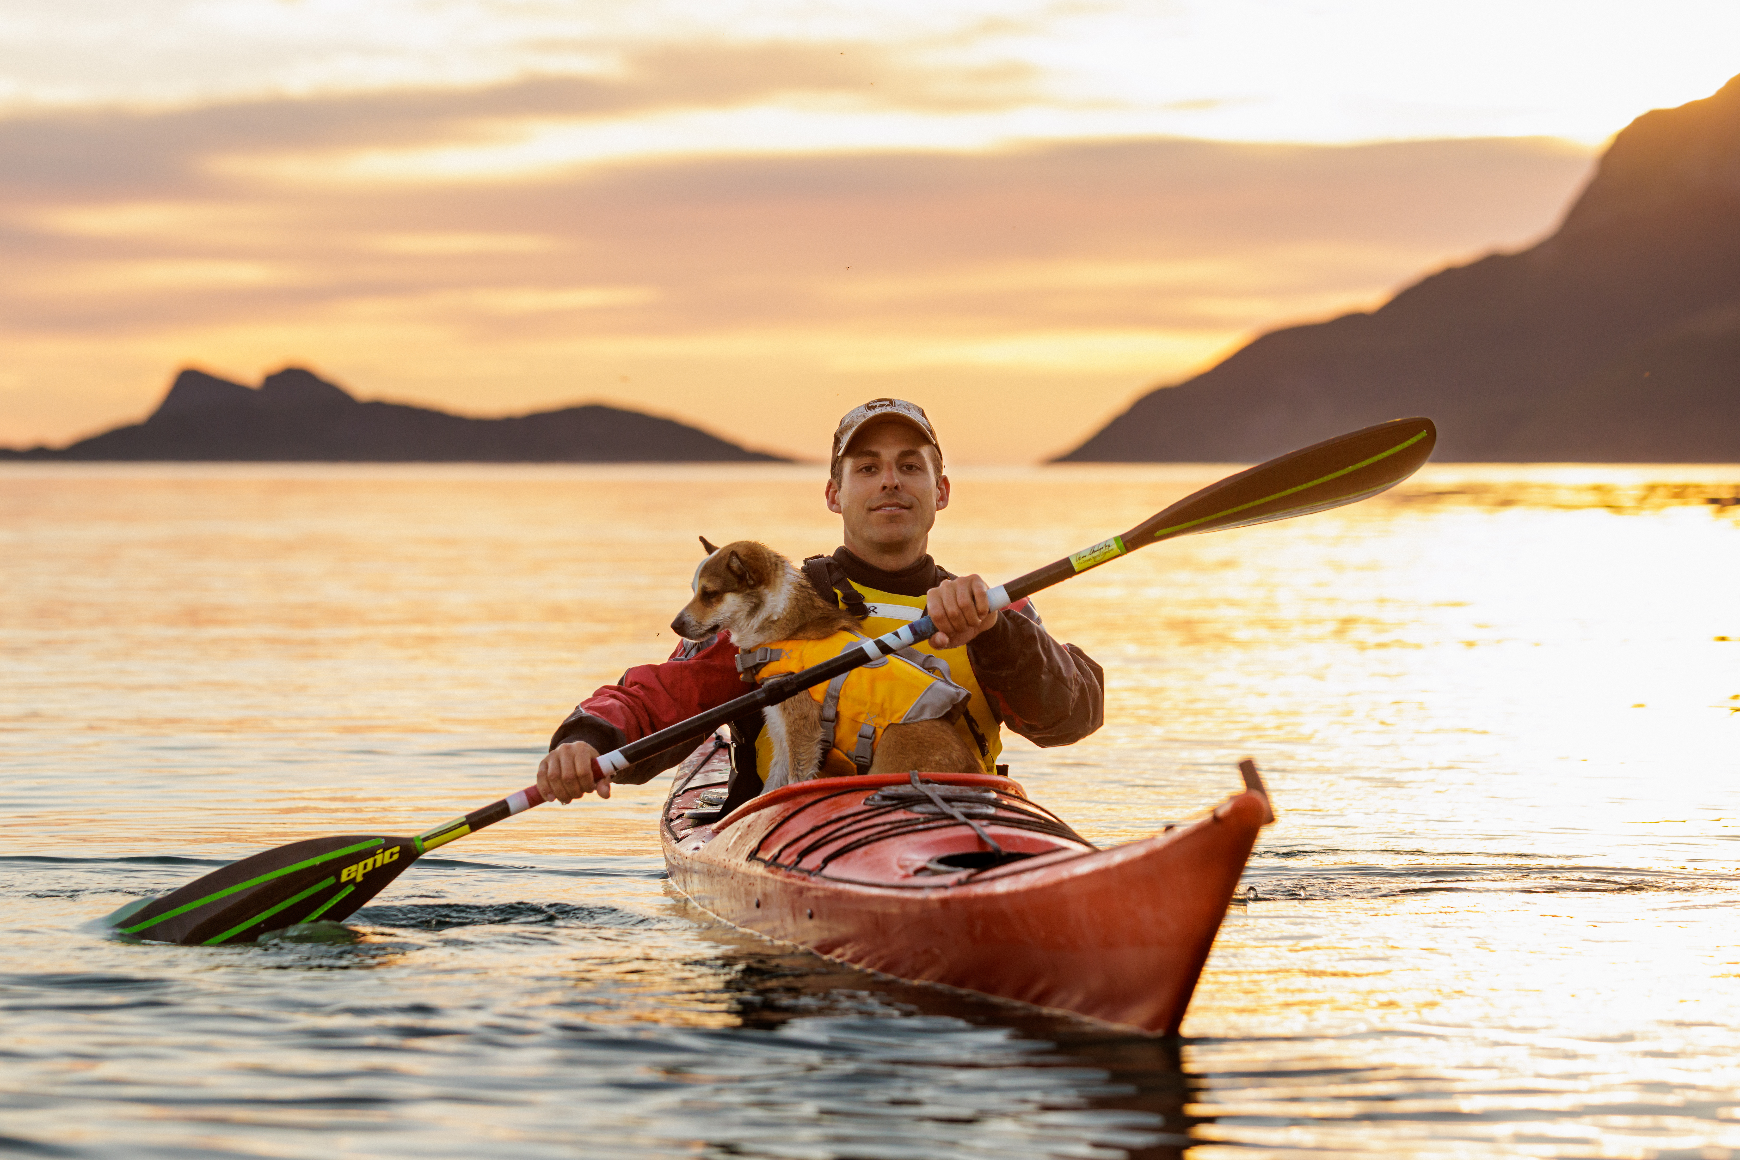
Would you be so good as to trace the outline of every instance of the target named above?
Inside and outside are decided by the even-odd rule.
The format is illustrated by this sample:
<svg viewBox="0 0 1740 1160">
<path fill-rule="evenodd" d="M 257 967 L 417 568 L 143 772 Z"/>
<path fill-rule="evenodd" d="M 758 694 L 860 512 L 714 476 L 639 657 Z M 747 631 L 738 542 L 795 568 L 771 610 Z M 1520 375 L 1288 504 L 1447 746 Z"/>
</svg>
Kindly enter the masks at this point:
<svg viewBox="0 0 1740 1160">
<path fill-rule="evenodd" d="M 550 737 L 550 748 L 585 741 L 599 753 L 609 753 L 740 697 L 750 687 L 738 677 L 736 657 L 738 647 L 731 643 L 731 635 L 720 633 L 699 643 L 684 642 L 663 664 L 637 664 L 614 685 L 606 685 L 576 704 Z M 654 753 L 618 770 L 611 781 L 626 786 L 652 781 L 705 741 L 706 737 L 684 741 Z"/>
</svg>

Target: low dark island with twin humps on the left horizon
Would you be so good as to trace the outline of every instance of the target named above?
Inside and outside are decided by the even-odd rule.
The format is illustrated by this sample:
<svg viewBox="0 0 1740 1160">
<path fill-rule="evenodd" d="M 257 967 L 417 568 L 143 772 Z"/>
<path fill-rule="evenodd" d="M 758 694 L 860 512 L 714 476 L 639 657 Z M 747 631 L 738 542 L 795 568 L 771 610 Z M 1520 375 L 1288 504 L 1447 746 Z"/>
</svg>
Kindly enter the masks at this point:
<svg viewBox="0 0 1740 1160">
<path fill-rule="evenodd" d="M 144 423 L 14 459 L 226 459 L 325 463 L 780 463 L 673 419 L 586 405 L 466 419 L 364 403 L 301 367 L 259 388 L 183 370 Z"/>
</svg>

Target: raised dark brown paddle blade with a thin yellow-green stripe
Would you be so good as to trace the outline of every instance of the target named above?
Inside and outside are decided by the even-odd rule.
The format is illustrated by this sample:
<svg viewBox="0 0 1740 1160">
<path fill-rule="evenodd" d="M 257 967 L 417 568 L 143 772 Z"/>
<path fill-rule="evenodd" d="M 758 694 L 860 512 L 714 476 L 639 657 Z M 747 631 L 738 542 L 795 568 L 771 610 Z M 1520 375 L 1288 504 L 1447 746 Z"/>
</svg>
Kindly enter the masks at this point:
<svg viewBox="0 0 1740 1160">
<path fill-rule="evenodd" d="M 1174 536 L 1286 520 L 1369 499 L 1420 470 L 1437 443 L 1430 419 L 1390 419 L 1302 447 L 1185 496 L 1122 537 L 1134 551 Z"/>
</svg>

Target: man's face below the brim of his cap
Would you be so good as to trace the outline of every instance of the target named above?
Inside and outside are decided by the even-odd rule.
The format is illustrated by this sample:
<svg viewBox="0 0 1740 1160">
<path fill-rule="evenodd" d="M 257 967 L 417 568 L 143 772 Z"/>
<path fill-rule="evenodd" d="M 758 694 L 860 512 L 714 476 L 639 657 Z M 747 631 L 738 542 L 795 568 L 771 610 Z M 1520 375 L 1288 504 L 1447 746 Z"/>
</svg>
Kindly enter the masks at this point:
<svg viewBox="0 0 1740 1160">
<path fill-rule="evenodd" d="M 907 423 L 870 423 L 840 457 L 839 482 L 828 480 L 828 511 L 846 522 L 846 544 L 898 551 L 922 544 L 948 506 L 948 477 L 931 470 L 929 443 Z"/>
</svg>

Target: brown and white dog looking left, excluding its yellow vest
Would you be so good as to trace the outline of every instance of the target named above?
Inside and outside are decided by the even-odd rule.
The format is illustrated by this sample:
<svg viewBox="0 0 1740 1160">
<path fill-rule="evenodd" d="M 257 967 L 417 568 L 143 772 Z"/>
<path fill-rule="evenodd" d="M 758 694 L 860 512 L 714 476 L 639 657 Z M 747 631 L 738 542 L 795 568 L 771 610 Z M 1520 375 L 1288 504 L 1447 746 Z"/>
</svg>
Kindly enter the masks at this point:
<svg viewBox="0 0 1740 1160">
<path fill-rule="evenodd" d="M 670 623 L 686 640 L 706 640 L 729 631 L 740 650 L 776 640 L 821 640 L 839 631 L 863 637 L 858 621 L 823 600 L 773 548 L 740 539 L 715 548 L 701 537 L 708 557 L 694 574 L 694 598 Z M 863 670 L 875 678 L 875 670 Z M 821 774 L 821 706 L 807 694 L 762 710 L 773 741 L 767 788 L 809 781 Z M 832 739 L 830 739 L 832 741 Z M 941 774 L 983 772 L 971 744 L 947 720 L 887 725 L 875 746 L 872 774 L 910 769 Z"/>
</svg>

